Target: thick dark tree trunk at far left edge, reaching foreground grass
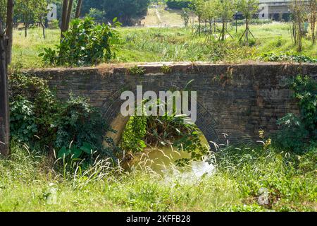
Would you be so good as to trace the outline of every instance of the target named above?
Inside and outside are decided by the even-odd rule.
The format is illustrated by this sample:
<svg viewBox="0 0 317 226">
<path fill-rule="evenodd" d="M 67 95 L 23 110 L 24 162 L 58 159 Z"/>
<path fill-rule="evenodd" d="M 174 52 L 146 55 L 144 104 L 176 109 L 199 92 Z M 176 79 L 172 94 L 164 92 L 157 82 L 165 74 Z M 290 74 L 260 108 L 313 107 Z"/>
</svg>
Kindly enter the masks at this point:
<svg viewBox="0 0 317 226">
<path fill-rule="evenodd" d="M 10 127 L 8 107 L 8 77 L 6 75 L 6 46 L 4 28 L 0 18 L 0 154 L 8 155 Z"/>
</svg>

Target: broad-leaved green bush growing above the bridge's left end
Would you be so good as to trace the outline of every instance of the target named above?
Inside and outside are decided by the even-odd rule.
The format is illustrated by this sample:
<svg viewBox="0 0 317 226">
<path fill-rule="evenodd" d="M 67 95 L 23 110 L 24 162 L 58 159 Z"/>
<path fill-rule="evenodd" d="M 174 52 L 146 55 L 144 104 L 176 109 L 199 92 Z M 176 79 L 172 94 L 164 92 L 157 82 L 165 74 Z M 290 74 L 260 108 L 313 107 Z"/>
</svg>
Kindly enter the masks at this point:
<svg viewBox="0 0 317 226">
<path fill-rule="evenodd" d="M 119 23 L 114 20 L 115 26 Z M 118 33 L 111 25 L 96 25 L 92 18 L 73 20 L 70 30 L 64 33 L 57 51 L 44 48 L 45 64 L 58 65 L 93 65 L 108 61 L 114 57 L 111 48 L 118 41 Z"/>
</svg>

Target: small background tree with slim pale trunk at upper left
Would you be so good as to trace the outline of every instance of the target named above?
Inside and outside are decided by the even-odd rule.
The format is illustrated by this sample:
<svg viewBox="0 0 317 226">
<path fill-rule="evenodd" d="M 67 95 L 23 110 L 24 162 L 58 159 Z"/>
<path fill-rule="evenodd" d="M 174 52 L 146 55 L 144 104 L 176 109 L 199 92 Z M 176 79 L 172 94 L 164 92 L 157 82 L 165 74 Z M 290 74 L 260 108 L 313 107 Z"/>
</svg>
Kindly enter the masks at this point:
<svg viewBox="0 0 317 226">
<path fill-rule="evenodd" d="M 27 28 L 35 19 L 36 2 L 37 0 L 15 0 L 15 14 L 23 22 L 25 37 L 27 37 Z"/>
</svg>

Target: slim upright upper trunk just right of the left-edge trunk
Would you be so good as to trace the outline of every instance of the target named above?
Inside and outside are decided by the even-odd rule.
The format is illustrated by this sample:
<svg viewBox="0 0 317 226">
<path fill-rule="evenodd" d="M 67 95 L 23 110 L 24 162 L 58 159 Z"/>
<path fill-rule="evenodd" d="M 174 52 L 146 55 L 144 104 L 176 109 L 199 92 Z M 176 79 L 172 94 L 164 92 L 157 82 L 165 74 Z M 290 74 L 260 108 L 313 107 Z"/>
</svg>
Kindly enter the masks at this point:
<svg viewBox="0 0 317 226">
<path fill-rule="evenodd" d="M 7 64 L 11 64 L 13 45 L 13 0 L 8 0 L 6 8 L 6 37 L 8 37 L 8 46 L 6 47 L 6 62 Z"/>
</svg>

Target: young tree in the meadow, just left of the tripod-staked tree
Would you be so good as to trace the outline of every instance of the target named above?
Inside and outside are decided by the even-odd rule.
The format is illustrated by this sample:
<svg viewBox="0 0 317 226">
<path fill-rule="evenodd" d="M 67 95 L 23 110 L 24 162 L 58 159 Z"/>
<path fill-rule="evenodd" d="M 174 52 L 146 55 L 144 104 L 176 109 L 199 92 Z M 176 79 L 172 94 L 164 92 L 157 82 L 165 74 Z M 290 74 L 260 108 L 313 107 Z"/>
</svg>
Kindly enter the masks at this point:
<svg viewBox="0 0 317 226">
<path fill-rule="evenodd" d="M 217 17 L 220 18 L 222 23 L 219 40 L 224 41 L 225 34 L 228 33 L 230 35 L 230 33 L 227 30 L 227 23 L 229 22 L 229 20 L 231 20 L 231 18 L 235 14 L 236 1 L 235 0 L 215 0 L 214 4 L 216 7 L 216 12 L 218 14 Z"/>
</svg>

